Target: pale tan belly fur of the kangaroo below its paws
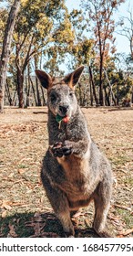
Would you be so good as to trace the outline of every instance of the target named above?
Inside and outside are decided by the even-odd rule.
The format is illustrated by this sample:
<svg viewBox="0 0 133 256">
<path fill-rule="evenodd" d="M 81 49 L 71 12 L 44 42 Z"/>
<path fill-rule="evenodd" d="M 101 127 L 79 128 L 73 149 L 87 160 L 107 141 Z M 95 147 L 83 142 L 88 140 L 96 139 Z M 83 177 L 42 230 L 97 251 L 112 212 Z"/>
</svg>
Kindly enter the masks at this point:
<svg viewBox="0 0 133 256">
<path fill-rule="evenodd" d="M 97 186 L 96 178 L 94 179 L 93 177 L 94 180 L 92 180 L 90 174 L 88 158 L 69 155 L 67 157 L 58 157 L 57 161 L 62 165 L 67 176 L 67 180 L 60 184 L 59 187 L 65 191 L 68 200 L 73 202 L 72 205 L 75 205 L 77 201 L 85 201 L 85 204 L 87 204 L 88 198 Z"/>
</svg>

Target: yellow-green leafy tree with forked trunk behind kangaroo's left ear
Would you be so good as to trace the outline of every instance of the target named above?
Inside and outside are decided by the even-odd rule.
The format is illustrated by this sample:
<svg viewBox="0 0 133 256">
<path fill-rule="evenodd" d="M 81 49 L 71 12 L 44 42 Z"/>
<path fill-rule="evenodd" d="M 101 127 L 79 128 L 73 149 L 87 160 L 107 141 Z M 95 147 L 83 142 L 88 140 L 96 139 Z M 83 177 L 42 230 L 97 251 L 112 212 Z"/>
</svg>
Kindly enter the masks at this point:
<svg viewBox="0 0 133 256">
<path fill-rule="evenodd" d="M 24 107 L 24 73 L 29 61 L 55 39 L 67 11 L 64 0 L 29 0 L 21 5 L 15 23 L 15 65 L 19 107 Z"/>
</svg>

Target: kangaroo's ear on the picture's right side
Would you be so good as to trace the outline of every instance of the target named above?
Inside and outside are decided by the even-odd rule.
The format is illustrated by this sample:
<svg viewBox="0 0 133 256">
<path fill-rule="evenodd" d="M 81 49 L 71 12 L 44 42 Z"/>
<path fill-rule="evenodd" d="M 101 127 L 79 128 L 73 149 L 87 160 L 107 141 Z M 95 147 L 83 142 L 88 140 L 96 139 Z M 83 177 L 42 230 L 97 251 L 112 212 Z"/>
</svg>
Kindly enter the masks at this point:
<svg viewBox="0 0 133 256">
<path fill-rule="evenodd" d="M 70 86 L 74 87 L 77 84 L 77 81 L 80 79 L 80 76 L 83 72 L 84 66 L 81 66 L 77 68 L 75 71 L 72 73 L 68 74 L 65 78 L 64 81 Z"/>
</svg>

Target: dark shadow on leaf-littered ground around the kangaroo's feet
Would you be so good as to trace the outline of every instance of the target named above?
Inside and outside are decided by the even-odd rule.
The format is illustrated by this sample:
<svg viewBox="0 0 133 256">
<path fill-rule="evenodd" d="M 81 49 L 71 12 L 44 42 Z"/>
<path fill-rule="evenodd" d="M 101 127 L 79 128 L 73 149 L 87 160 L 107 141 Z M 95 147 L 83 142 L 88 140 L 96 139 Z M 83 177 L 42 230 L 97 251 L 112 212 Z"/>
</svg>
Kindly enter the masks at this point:
<svg viewBox="0 0 133 256">
<path fill-rule="evenodd" d="M 97 238 L 94 229 L 78 227 L 74 222 L 76 238 Z M 0 219 L 1 238 L 64 238 L 65 233 L 56 216 L 51 212 L 21 213 Z"/>
</svg>

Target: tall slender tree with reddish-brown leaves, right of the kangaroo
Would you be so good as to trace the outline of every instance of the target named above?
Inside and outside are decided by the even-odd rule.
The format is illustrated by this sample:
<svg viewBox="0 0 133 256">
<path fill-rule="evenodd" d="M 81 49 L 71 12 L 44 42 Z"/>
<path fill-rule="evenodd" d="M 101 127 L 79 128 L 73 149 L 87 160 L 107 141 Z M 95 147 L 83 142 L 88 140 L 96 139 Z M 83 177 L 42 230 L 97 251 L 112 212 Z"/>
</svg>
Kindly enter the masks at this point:
<svg viewBox="0 0 133 256">
<path fill-rule="evenodd" d="M 115 29 L 114 12 L 125 0 L 82 0 L 85 10 L 89 37 L 94 39 L 94 48 L 99 63 L 99 104 L 104 105 L 103 68 L 109 51 L 115 52 L 113 35 Z"/>
</svg>

